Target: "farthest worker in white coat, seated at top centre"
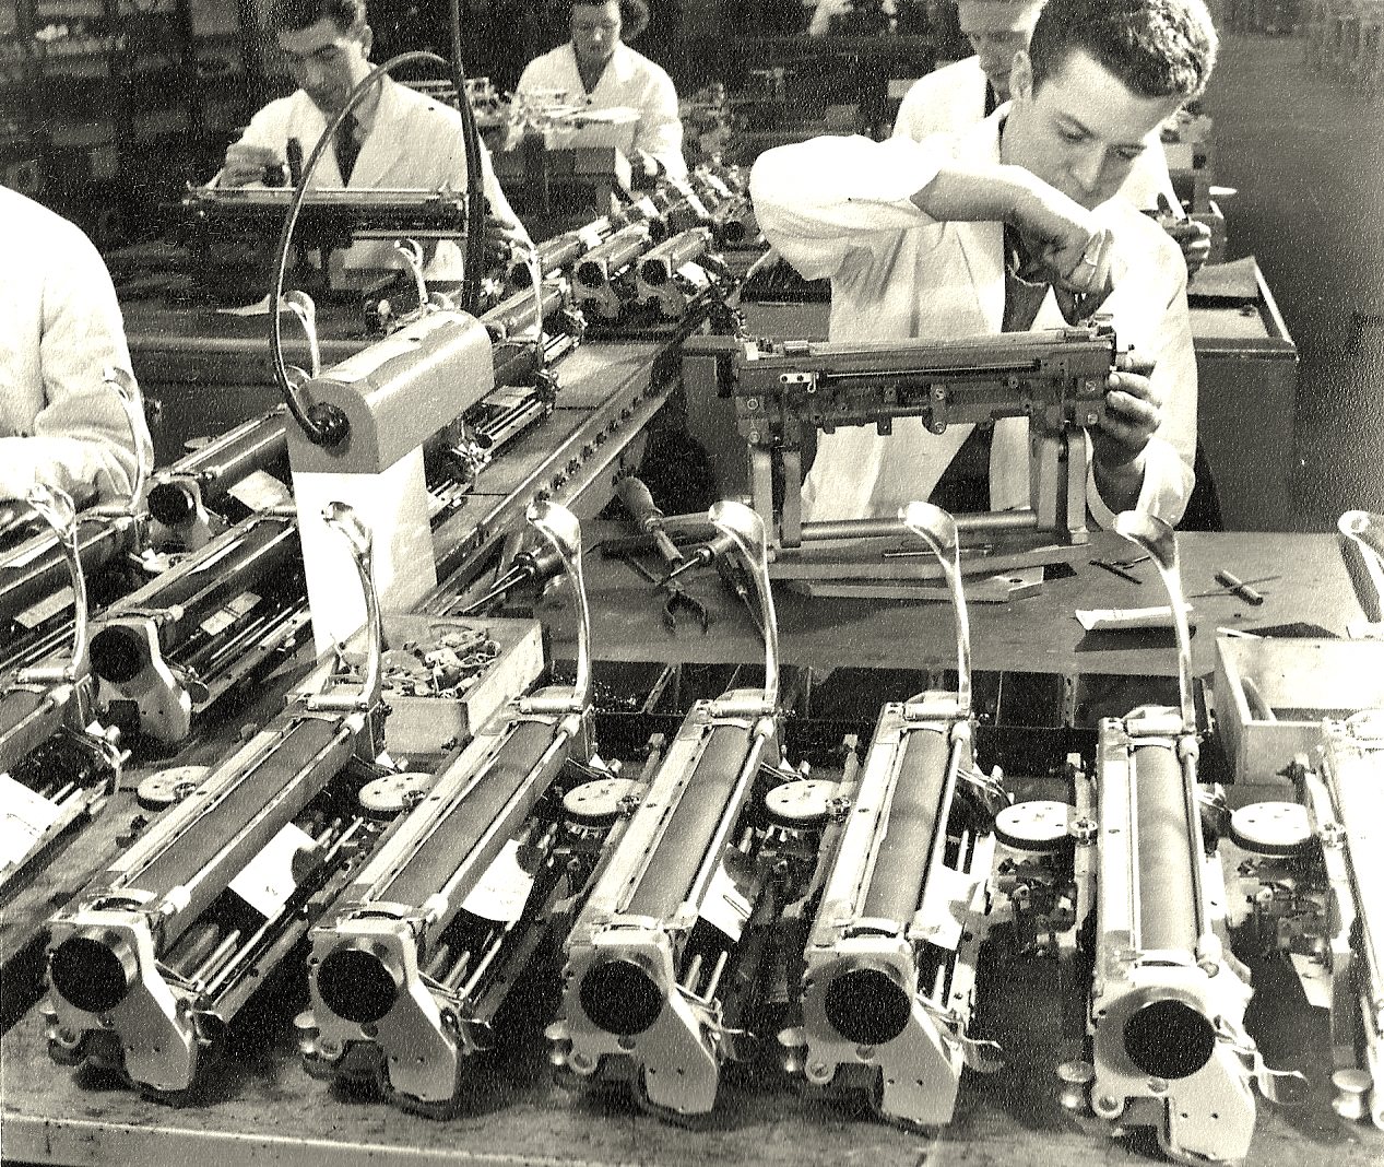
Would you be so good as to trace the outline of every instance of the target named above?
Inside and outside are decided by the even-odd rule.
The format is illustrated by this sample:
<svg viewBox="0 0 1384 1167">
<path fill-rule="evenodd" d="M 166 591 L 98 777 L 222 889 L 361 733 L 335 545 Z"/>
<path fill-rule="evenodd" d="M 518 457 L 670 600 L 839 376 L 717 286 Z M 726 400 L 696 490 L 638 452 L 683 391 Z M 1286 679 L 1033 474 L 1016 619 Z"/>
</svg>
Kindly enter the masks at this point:
<svg viewBox="0 0 1384 1167">
<path fill-rule="evenodd" d="M 530 61 L 515 93 L 563 93 L 592 111 L 635 111 L 638 120 L 609 127 L 606 144 L 649 174 L 682 179 L 688 165 L 673 79 L 626 43 L 648 22 L 644 0 L 573 0 L 572 40 Z"/>
</svg>

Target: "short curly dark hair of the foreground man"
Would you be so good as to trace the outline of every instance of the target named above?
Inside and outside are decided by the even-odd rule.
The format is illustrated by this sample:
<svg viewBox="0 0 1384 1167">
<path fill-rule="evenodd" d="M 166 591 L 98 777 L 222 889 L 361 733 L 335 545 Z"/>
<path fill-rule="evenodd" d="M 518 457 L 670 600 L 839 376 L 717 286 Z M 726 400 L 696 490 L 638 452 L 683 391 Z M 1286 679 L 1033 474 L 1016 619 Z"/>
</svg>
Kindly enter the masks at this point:
<svg viewBox="0 0 1384 1167">
<path fill-rule="evenodd" d="M 1034 90 L 1084 50 L 1139 97 L 1200 97 L 1218 47 L 1204 0 L 1048 0 L 1032 40 Z"/>
</svg>

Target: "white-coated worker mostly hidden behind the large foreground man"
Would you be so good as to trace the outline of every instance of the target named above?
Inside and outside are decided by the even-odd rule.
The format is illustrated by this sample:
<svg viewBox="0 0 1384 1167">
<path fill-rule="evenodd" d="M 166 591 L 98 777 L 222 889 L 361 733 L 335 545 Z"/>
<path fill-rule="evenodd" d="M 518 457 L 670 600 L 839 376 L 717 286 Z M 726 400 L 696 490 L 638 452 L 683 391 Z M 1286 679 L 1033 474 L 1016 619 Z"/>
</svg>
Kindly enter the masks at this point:
<svg viewBox="0 0 1384 1167">
<path fill-rule="evenodd" d="M 1028 47 L 1042 6 L 1044 0 L 959 0 L 960 30 L 976 55 L 913 82 L 898 107 L 894 137 L 922 141 L 929 134 L 958 133 L 1009 101 L 1014 54 Z M 1211 253 L 1211 228 L 1182 216 L 1157 141 L 1139 155 L 1120 194 L 1139 210 L 1174 212 L 1164 226 L 1182 248 L 1187 273 L 1194 275 Z"/>
</svg>

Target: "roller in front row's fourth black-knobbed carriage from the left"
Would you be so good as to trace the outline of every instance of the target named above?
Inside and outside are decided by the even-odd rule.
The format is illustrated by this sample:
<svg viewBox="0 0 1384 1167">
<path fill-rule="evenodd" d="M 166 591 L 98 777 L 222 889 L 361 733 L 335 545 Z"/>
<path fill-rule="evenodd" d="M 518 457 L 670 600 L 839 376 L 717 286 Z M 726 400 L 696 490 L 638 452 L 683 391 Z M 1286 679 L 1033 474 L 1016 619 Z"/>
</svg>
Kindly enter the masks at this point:
<svg viewBox="0 0 1384 1167">
<path fill-rule="evenodd" d="M 861 915 L 871 919 L 905 922 L 912 919 L 927 879 L 927 857 L 933 836 L 945 824 L 937 821 L 951 745 L 937 730 L 915 730 L 908 735 L 904 760 L 889 807 L 889 825 L 879 843 L 875 872 Z"/>
</svg>

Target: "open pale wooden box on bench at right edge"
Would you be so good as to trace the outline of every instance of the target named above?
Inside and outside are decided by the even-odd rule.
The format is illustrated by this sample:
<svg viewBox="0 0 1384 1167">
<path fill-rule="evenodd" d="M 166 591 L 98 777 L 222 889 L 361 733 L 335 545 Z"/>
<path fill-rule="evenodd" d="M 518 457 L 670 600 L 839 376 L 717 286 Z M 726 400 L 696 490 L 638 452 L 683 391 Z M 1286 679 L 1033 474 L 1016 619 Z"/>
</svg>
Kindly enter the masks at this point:
<svg viewBox="0 0 1384 1167">
<path fill-rule="evenodd" d="M 1323 718 L 1384 709 L 1384 644 L 1221 635 L 1212 694 L 1236 784 L 1279 785 L 1316 750 Z"/>
</svg>

